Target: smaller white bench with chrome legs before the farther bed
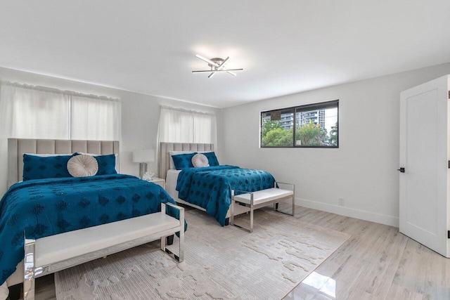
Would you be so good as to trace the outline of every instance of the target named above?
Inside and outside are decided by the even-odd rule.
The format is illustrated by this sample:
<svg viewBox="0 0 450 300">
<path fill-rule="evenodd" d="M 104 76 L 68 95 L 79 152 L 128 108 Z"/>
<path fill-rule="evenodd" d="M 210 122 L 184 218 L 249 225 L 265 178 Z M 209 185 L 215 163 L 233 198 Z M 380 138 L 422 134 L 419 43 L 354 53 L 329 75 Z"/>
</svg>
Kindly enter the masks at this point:
<svg viewBox="0 0 450 300">
<path fill-rule="evenodd" d="M 292 208 L 292 214 L 293 216 L 295 214 L 295 185 L 291 183 L 275 183 L 282 184 L 282 185 L 290 185 L 292 186 L 292 190 L 285 190 L 282 188 L 268 188 L 266 190 L 257 190 L 256 192 L 249 193 L 245 191 L 238 191 L 234 190 L 233 195 L 231 197 L 231 216 L 230 216 L 230 224 L 237 226 L 239 228 L 243 228 L 242 226 L 238 226 L 234 223 L 234 214 L 233 214 L 233 207 L 238 202 L 241 205 L 245 205 L 245 207 L 250 208 L 250 229 L 243 228 L 245 230 L 250 231 L 250 233 L 253 232 L 253 211 L 255 209 L 259 209 L 261 207 L 266 207 L 269 204 L 274 204 L 274 210 L 278 211 L 278 202 L 292 199 L 293 202 L 293 208 Z M 240 192 L 240 195 L 234 195 L 236 192 Z M 283 211 L 278 211 L 283 214 Z"/>
</svg>

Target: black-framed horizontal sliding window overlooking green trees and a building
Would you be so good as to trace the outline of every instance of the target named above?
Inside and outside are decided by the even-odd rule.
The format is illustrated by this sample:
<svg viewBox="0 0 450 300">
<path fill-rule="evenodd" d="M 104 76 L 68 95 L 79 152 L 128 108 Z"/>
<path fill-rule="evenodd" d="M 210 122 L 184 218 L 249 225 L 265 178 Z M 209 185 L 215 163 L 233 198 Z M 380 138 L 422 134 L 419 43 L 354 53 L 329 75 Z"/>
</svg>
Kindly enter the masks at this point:
<svg viewBox="0 0 450 300">
<path fill-rule="evenodd" d="M 262 148 L 339 148 L 339 100 L 261 112 Z"/>
</svg>

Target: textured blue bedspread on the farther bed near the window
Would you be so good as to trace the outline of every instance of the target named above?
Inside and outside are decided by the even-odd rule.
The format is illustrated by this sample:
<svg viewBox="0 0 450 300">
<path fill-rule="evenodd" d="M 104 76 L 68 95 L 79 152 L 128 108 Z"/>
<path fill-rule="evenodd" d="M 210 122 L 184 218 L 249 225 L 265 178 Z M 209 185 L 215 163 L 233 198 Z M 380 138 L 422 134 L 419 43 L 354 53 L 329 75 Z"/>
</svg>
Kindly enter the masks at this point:
<svg viewBox="0 0 450 300">
<path fill-rule="evenodd" d="M 273 188 L 274 182 L 274 176 L 261 170 L 236 166 L 188 168 L 180 172 L 176 190 L 181 200 L 203 207 L 224 226 L 231 190 L 254 192 Z"/>
</svg>

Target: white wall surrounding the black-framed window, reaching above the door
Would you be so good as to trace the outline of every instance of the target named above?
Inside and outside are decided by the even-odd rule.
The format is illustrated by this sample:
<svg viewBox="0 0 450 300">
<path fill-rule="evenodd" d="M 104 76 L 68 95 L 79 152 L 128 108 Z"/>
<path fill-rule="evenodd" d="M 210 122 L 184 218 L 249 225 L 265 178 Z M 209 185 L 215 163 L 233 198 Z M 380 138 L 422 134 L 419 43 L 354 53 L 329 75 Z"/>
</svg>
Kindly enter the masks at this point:
<svg viewBox="0 0 450 300">
<path fill-rule="evenodd" d="M 221 163 L 295 183 L 296 202 L 304 207 L 398 227 L 400 92 L 445 74 L 450 63 L 226 108 Z M 259 148 L 259 112 L 335 99 L 338 149 Z"/>
</svg>

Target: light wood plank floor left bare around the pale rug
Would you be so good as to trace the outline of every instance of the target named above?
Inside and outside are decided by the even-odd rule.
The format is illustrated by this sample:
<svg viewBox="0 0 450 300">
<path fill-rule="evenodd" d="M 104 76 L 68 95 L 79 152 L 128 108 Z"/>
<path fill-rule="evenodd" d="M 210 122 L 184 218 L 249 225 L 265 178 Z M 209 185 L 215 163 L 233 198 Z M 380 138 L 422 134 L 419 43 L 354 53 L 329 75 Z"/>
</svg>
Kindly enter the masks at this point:
<svg viewBox="0 0 450 300">
<path fill-rule="evenodd" d="M 352 236 L 286 300 L 450 299 L 450 259 L 398 228 L 304 207 L 295 210 L 303 222 Z M 55 296 L 52 276 L 38 278 L 37 299 Z"/>
</svg>

